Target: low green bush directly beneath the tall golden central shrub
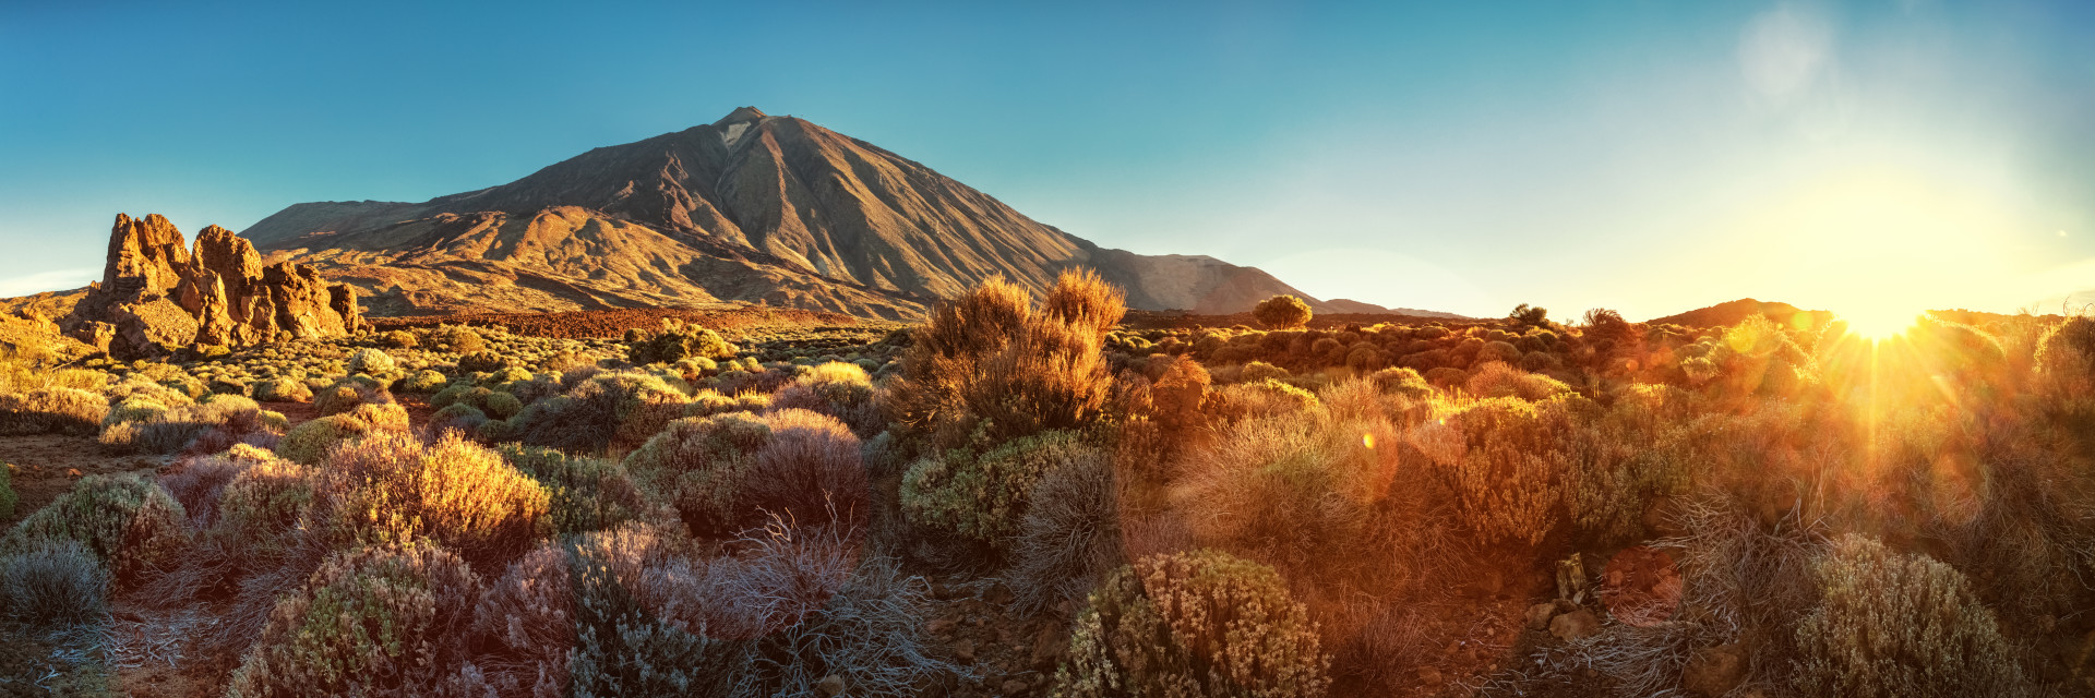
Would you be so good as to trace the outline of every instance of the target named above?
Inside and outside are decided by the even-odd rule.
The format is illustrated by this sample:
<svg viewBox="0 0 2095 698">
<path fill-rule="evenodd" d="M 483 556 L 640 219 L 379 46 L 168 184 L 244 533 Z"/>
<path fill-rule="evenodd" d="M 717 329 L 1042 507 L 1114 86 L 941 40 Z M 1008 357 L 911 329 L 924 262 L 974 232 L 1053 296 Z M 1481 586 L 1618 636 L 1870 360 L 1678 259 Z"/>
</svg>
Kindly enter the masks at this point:
<svg viewBox="0 0 2095 698">
<path fill-rule="evenodd" d="M 1075 432 L 1014 438 L 985 453 L 949 449 L 911 463 L 903 474 L 903 516 L 911 524 L 1004 551 L 1018 535 L 1041 476 L 1096 457 Z"/>
</svg>

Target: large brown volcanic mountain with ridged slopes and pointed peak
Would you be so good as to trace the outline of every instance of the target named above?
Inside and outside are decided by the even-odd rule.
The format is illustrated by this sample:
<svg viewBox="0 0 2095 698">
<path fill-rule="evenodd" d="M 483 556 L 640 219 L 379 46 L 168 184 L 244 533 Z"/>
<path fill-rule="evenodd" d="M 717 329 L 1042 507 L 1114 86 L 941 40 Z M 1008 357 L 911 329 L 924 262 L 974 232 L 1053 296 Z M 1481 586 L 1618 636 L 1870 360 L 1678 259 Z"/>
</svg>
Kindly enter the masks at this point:
<svg viewBox="0 0 2095 698">
<path fill-rule="evenodd" d="M 1006 277 L 1096 268 L 1133 308 L 1322 302 L 1207 256 L 1106 249 L 930 168 L 742 107 L 593 149 L 509 184 L 421 203 L 297 203 L 241 233 L 362 291 L 373 314 L 756 302 L 905 319 Z"/>
</svg>

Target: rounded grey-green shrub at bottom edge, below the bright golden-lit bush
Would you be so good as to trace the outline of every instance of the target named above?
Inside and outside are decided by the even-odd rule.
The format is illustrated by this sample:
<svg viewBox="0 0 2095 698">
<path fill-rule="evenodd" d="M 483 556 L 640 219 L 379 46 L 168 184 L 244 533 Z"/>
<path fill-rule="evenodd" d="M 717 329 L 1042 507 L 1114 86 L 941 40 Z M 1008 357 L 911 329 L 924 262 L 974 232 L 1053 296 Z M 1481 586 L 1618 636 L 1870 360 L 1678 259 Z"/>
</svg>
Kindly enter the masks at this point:
<svg viewBox="0 0 2095 698">
<path fill-rule="evenodd" d="M 277 604 L 226 696 L 463 694 L 450 683 L 478 593 L 473 570 L 429 543 L 337 553 Z"/>
</svg>

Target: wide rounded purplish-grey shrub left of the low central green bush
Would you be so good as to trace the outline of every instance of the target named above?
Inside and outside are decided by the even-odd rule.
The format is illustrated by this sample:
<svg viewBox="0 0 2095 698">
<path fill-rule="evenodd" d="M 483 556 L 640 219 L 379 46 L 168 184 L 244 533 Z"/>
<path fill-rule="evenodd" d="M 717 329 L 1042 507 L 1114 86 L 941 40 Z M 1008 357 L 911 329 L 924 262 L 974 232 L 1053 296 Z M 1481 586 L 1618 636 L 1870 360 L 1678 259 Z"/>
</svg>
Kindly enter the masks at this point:
<svg viewBox="0 0 2095 698">
<path fill-rule="evenodd" d="M 869 516 L 859 438 L 830 415 L 784 409 L 672 421 L 624 465 L 696 535 L 733 535 L 765 514 L 802 524 Z"/>
</svg>

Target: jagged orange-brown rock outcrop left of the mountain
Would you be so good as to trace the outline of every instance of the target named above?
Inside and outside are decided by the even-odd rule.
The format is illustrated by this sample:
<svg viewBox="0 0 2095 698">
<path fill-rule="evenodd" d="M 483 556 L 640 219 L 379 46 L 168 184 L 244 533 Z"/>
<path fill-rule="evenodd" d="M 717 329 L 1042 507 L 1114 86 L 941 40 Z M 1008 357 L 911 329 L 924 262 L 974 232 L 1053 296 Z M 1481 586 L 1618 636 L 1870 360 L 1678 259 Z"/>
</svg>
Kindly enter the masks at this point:
<svg viewBox="0 0 2095 698">
<path fill-rule="evenodd" d="M 168 218 L 117 214 L 103 281 L 59 323 L 117 358 L 182 346 L 329 337 L 369 327 L 356 289 L 306 264 L 262 264 L 253 243 L 207 226 L 191 249 Z"/>
</svg>

